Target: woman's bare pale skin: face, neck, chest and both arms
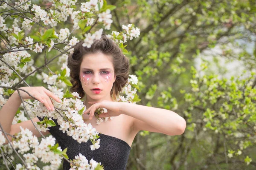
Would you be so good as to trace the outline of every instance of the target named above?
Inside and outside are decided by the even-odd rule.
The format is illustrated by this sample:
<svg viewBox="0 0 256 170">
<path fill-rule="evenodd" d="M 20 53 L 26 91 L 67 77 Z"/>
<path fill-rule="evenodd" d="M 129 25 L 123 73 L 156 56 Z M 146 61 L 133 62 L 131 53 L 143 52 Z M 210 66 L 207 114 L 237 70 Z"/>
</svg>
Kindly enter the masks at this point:
<svg viewBox="0 0 256 170">
<path fill-rule="evenodd" d="M 108 69 L 101 70 L 102 68 Z M 116 80 L 116 75 L 114 74 L 110 56 L 102 53 L 84 56 L 80 66 L 79 77 L 86 94 L 84 105 L 86 105 L 87 110 L 83 114 L 84 123 L 91 123 L 99 133 L 121 139 L 131 146 L 134 137 L 140 130 L 163 133 L 170 136 L 181 135 L 185 131 L 186 121 L 173 111 L 114 101 L 110 91 L 113 87 L 113 82 Z M 57 96 L 43 87 L 26 88 L 29 89 L 29 92 L 34 94 L 33 96 L 36 99 L 40 102 L 44 102 L 47 108 L 53 107 L 49 97 L 60 102 Z M 26 90 L 26 88 L 23 89 Z M 91 90 L 93 88 L 100 88 L 102 91 L 96 94 Z M 20 91 L 20 94 L 23 95 L 23 99 L 31 98 L 25 92 Z M 10 99 L 17 101 L 19 98 L 17 91 L 15 91 L 13 95 L 14 96 L 11 96 L 12 99 Z M 32 133 L 39 137 L 40 133 L 33 127 L 30 120 L 12 125 L 12 119 L 16 113 L 15 109 L 18 108 L 19 102 L 15 108 L 9 100 L 0 110 L 0 120 L 9 120 L 5 122 L 0 121 L 4 130 L 7 133 L 15 134 L 20 131 L 19 126 L 22 126 L 23 128 L 29 128 Z M 3 113 L 11 107 L 13 109 L 11 116 L 7 116 Z M 106 108 L 108 112 L 100 114 L 100 117 L 113 116 L 113 120 L 108 119 L 107 122 L 102 122 L 100 125 L 97 125 L 96 117 L 94 116 L 94 111 L 97 108 Z M 89 115 L 87 113 L 89 113 Z M 34 122 L 40 121 L 37 117 L 32 120 Z M 49 134 L 48 131 L 42 133 L 44 135 Z"/>
</svg>

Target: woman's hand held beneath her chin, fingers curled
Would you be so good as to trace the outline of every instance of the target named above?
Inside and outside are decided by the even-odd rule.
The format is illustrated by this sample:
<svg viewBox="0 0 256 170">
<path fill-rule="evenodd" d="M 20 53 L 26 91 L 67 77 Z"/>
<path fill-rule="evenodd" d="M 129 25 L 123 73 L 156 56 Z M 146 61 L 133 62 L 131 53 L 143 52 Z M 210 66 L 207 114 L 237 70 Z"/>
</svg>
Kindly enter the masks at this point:
<svg viewBox="0 0 256 170">
<path fill-rule="evenodd" d="M 111 102 L 108 100 L 103 100 L 102 102 L 88 102 L 89 104 L 93 104 L 84 112 L 84 117 L 86 117 L 87 113 L 89 113 L 89 120 L 93 119 L 94 112 L 98 108 L 106 108 L 108 112 L 101 113 L 99 117 L 110 117 L 110 116 L 119 116 L 120 107 L 122 102 Z"/>
</svg>

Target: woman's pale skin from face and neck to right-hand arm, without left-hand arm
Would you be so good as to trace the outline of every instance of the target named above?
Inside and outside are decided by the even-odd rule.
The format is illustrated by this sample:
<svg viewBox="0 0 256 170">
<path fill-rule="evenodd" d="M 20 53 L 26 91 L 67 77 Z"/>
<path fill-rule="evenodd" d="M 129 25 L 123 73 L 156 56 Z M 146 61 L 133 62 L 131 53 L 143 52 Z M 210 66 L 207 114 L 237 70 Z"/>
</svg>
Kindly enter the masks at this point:
<svg viewBox="0 0 256 170">
<path fill-rule="evenodd" d="M 82 70 L 82 68 L 90 68 L 93 71 Z M 101 68 L 111 68 L 110 72 L 113 73 L 110 57 L 102 53 L 87 55 L 81 63 L 80 77 L 82 77 L 83 71 L 87 71 L 85 73 L 90 74 L 89 83 L 87 78 L 84 82 L 81 81 L 84 91 L 87 92 L 87 99 L 84 102 L 87 111 L 83 115 L 85 123 L 91 123 L 98 132 L 122 139 L 130 146 L 140 130 L 164 133 L 171 136 L 181 135 L 184 132 L 186 121 L 175 112 L 128 102 L 113 101 L 110 91 L 116 75 L 111 74 L 111 82 L 106 82 L 105 78 L 100 74 Z M 84 86 L 84 83 L 86 86 Z M 100 94 L 95 94 L 90 91 L 93 88 L 100 88 L 102 91 Z M 97 125 L 96 117 L 94 116 L 94 111 L 97 108 L 106 108 L 108 110 L 108 113 L 102 113 L 100 117 L 114 116 L 114 119 L 108 119 L 107 122 Z M 90 113 L 90 115 L 87 115 L 87 113 Z"/>
</svg>

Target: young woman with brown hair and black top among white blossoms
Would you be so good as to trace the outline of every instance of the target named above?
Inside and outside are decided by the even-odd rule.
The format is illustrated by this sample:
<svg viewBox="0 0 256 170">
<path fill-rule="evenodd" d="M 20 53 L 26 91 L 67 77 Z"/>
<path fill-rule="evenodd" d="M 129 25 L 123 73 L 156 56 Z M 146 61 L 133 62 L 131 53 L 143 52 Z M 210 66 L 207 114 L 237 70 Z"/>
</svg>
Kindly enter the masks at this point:
<svg viewBox="0 0 256 170">
<path fill-rule="evenodd" d="M 70 159 L 81 153 L 87 160 L 94 159 L 101 162 L 105 170 L 125 170 L 132 142 L 140 130 L 170 136 L 181 135 L 184 132 L 186 122 L 175 112 L 116 101 L 116 96 L 125 86 L 129 75 L 129 60 L 116 43 L 105 36 L 93 42 L 90 48 L 83 47 L 82 43 L 79 42 L 73 54 L 68 57 L 67 64 L 73 84 L 70 91 L 76 91 L 81 99 L 85 97 L 84 105 L 87 110 L 83 114 L 84 123 L 91 123 L 99 132 L 100 147 L 91 150 L 90 141 L 79 144 L 67 133 L 62 133 L 56 121 L 57 126 L 49 127 L 49 131 L 43 133 L 44 135 L 51 133 L 62 149 L 67 147 L 67 156 Z M 49 109 L 53 107 L 49 97 L 58 101 L 57 96 L 43 87 L 23 87 L 23 89 L 29 91 L 39 101 L 44 101 L 44 105 Z M 20 93 L 23 99 L 30 98 L 25 92 L 20 91 Z M 40 134 L 30 120 L 12 125 L 12 119 L 20 103 L 21 100 L 15 91 L 0 111 L 1 125 L 11 134 L 19 132 L 19 126 L 22 126 L 29 128 L 39 137 Z M 97 108 L 108 110 L 107 113 L 100 114 L 100 117 L 114 116 L 114 118 L 96 124 L 94 111 Z M 36 117 L 32 120 L 38 122 L 43 119 Z M 64 170 L 70 168 L 70 164 L 65 160 L 63 168 Z"/>
</svg>

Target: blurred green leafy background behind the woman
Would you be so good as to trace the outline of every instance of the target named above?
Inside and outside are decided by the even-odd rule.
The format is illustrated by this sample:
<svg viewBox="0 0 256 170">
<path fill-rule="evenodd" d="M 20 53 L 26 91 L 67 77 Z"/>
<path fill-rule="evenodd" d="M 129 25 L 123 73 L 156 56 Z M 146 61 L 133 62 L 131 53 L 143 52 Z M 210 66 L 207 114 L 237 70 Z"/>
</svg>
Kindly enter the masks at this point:
<svg viewBox="0 0 256 170">
<path fill-rule="evenodd" d="M 127 170 L 255 170 L 256 1 L 107 2 L 116 9 L 105 34 L 129 23 L 140 28 L 126 47 L 130 74 L 139 80 L 137 104 L 172 110 L 187 123 L 180 136 L 140 131 Z M 47 59 L 57 54 L 51 51 Z M 44 63 L 44 53 L 32 58 L 37 66 Z M 48 66 L 59 69 L 54 62 Z M 26 82 L 42 85 L 35 77 Z"/>
</svg>

